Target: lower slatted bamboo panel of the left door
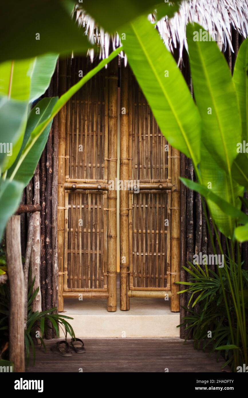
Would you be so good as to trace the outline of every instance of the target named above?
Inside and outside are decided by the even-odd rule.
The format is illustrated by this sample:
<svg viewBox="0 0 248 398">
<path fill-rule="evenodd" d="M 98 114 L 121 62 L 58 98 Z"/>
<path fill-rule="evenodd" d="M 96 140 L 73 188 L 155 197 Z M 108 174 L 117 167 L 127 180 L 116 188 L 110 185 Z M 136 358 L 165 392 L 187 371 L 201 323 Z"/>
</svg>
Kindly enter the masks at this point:
<svg viewBox="0 0 248 398">
<path fill-rule="evenodd" d="M 67 193 L 67 198 L 68 289 L 107 289 L 106 194 Z"/>
</svg>

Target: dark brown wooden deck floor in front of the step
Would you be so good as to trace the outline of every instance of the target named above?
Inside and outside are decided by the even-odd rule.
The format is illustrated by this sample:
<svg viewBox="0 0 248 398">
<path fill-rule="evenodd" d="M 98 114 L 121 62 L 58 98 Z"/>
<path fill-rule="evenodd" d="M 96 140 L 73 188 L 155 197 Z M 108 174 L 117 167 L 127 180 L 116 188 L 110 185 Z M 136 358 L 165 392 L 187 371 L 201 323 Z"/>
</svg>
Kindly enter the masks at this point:
<svg viewBox="0 0 248 398">
<path fill-rule="evenodd" d="M 57 340 L 46 341 L 47 352 L 36 348 L 36 362 L 32 358 L 27 372 L 221 372 L 224 361 L 216 362 L 215 354 L 208 355 L 193 348 L 192 342 L 180 339 L 84 339 L 86 352 L 61 357 L 50 348 Z M 68 339 L 69 341 L 69 339 Z"/>
</svg>

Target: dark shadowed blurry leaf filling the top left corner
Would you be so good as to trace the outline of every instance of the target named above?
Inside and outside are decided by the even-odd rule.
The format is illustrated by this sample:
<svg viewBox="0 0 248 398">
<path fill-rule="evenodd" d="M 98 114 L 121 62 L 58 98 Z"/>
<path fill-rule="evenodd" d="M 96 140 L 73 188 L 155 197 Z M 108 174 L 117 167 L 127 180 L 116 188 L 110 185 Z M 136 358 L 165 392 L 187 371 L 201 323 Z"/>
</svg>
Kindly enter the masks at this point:
<svg viewBox="0 0 248 398">
<path fill-rule="evenodd" d="M 10 4 L 2 2 L 0 61 L 47 53 L 86 54 L 92 44 L 84 28 L 72 20 L 72 9 L 68 0 L 12 0 L 10 12 Z"/>
</svg>

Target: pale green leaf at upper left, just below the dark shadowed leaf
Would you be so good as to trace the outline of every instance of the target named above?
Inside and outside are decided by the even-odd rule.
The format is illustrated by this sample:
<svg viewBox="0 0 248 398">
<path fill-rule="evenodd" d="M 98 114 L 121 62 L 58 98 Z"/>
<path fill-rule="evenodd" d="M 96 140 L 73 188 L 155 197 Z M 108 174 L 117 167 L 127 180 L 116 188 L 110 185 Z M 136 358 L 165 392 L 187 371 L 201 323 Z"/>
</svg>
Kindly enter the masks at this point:
<svg viewBox="0 0 248 398">
<path fill-rule="evenodd" d="M 57 59 L 58 54 L 45 54 L 35 58 L 31 76 L 29 102 L 35 101 L 49 87 Z"/>
</svg>

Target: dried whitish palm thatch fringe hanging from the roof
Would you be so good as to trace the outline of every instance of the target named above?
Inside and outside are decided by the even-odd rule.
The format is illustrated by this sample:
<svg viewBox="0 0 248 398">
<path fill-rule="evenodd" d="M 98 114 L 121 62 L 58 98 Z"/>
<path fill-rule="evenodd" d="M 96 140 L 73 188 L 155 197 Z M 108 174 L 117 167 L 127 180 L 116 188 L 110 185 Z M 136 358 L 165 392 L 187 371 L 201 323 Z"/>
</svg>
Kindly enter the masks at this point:
<svg viewBox="0 0 248 398">
<path fill-rule="evenodd" d="M 155 21 L 156 14 L 150 14 L 148 18 L 150 21 Z M 80 25 L 85 27 L 90 41 L 99 45 L 100 59 L 109 55 L 111 43 L 113 49 L 119 47 L 121 41 L 118 34 L 110 36 L 105 33 L 83 10 L 76 10 L 76 19 Z M 168 20 L 167 17 L 164 17 L 158 21 L 156 27 L 166 47 L 172 52 L 173 49 L 179 48 L 180 58 L 184 46 L 187 49 L 186 25 L 188 22 L 197 22 L 210 33 L 216 32 L 219 47 L 223 45 L 226 47 L 228 43 L 233 51 L 231 26 L 243 37 L 248 36 L 247 0 L 185 0 L 173 18 Z M 89 55 L 93 59 L 94 50 L 90 50 Z M 124 55 L 121 54 L 121 56 Z"/>
</svg>

